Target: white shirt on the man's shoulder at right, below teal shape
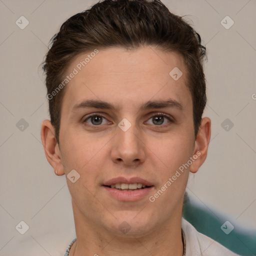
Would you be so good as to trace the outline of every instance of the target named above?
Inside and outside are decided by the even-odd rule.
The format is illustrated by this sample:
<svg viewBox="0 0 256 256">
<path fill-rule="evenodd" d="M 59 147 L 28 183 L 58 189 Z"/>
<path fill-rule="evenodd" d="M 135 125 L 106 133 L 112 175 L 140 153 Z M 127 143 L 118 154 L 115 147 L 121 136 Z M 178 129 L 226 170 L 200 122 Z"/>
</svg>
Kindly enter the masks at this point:
<svg viewBox="0 0 256 256">
<path fill-rule="evenodd" d="M 212 238 L 199 233 L 183 217 L 181 228 L 185 234 L 185 256 L 239 256 Z"/>
</svg>

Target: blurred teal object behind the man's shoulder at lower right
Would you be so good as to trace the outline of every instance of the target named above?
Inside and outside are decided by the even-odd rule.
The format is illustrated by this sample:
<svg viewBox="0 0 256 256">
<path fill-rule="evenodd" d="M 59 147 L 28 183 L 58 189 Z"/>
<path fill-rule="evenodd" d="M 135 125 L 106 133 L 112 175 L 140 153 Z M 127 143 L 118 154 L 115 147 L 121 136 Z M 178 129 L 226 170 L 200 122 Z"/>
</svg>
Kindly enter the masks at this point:
<svg viewBox="0 0 256 256">
<path fill-rule="evenodd" d="M 256 255 L 256 230 L 243 228 L 232 218 L 216 212 L 215 209 L 211 211 L 207 206 L 196 202 L 188 195 L 184 198 L 183 217 L 198 232 L 211 237 L 229 250 L 244 256 Z M 229 226 L 234 228 L 228 230 Z M 226 234 L 223 230 L 227 233 L 231 231 Z"/>
</svg>

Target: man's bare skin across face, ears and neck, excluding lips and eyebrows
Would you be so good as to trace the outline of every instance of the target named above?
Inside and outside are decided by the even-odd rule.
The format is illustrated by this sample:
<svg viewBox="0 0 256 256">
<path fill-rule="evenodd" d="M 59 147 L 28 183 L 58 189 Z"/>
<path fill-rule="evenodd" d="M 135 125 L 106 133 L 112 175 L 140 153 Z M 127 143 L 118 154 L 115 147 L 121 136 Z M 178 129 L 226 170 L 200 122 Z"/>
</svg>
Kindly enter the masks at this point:
<svg viewBox="0 0 256 256">
<path fill-rule="evenodd" d="M 68 66 L 69 74 L 88 53 Z M 183 75 L 174 80 L 169 72 Z M 182 57 L 153 47 L 136 50 L 99 49 L 66 85 L 61 108 L 59 145 L 49 120 L 41 126 L 41 140 L 48 162 L 57 175 L 75 169 L 80 178 L 67 185 L 72 197 L 77 240 L 70 256 L 78 255 L 182 255 L 181 215 L 189 171 L 204 162 L 210 139 L 210 119 L 204 117 L 194 137 L 192 97 L 186 86 Z M 173 99 L 178 107 L 140 109 L 148 100 Z M 86 99 L 103 100 L 116 109 L 78 108 Z M 159 117 L 164 113 L 166 117 Z M 87 118 L 100 113 L 102 123 Z M 87 118 L 87 119 L 86 119 Z M 126 118 L 127 131 L 118 127 Z M 157 119 L 158 118 L 158 119 Z M 161 121 L 162 120 L 162 121 Z M 95 125 L 95 123 L 97 125 Z M 200 156 L 154 202 L 148 200 L 189 157 Z M 110 178 L 139 176 L 154 187 L 135 201 L 112 198 L 102 186 Z M 131 229 L 122 233 L 126 221 Z M 150 252 L 150 253 L 149 253 Z"/>
</svg>

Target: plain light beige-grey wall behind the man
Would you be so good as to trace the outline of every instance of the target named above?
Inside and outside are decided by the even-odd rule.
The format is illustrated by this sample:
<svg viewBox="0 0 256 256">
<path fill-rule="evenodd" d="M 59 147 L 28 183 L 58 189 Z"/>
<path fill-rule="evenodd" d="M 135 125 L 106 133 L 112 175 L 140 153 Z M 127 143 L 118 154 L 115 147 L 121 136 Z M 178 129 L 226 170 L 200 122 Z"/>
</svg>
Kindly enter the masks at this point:
<svg viewBox="0 0 256 256">
<path fill-rule="evenodd" d="M 65 177 L 54 174 L 40 141 L 48 112 L 37 68 L 60 25 L 95 2 L 0 0 L 0 256 L 63 255 L 75 237 Z M 212 135 L 207 159 L 190 176 L 187 191 L 228 215 L 234 226 L 256 228 L 256 1 L 163 2 L 186 15 L 207 48 L 204 116 L 212 120 Z M 15 23 L 21 15 L 29 21 L 24 29 Z M 227 15 L 234 21 L 229 29 L 221 24 Z M 23 130 L 21 118 L 28 123 Z M 29 226 L 23 235 L 15 228 L 21 220 Z"/>
</svg>

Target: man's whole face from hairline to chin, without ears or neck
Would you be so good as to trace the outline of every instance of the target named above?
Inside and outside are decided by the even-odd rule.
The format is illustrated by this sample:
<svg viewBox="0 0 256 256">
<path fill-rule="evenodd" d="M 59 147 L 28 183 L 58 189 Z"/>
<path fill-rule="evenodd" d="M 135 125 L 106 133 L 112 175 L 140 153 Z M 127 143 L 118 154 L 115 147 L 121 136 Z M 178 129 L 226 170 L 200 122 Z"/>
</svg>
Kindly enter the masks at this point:
<svg viewBox="0 0 256 256">
<path fill-rule="evenodd" d="M 156 230 L 181 217 L 197 161 L 182 58 L 152 47 L 113 47 L 99 49 L 79 70 L 87 55 L 68 67 L 67 74 L 78 73 L 65 87 L 59 130 L 58 171 L 80 175 L 74 183 L 67 178 L 73 210 L 110 233 L 126 222 L 131 235 Z M 177 80 L 169 75 L 174 67 L 182 71 Z"/>
</svg>

